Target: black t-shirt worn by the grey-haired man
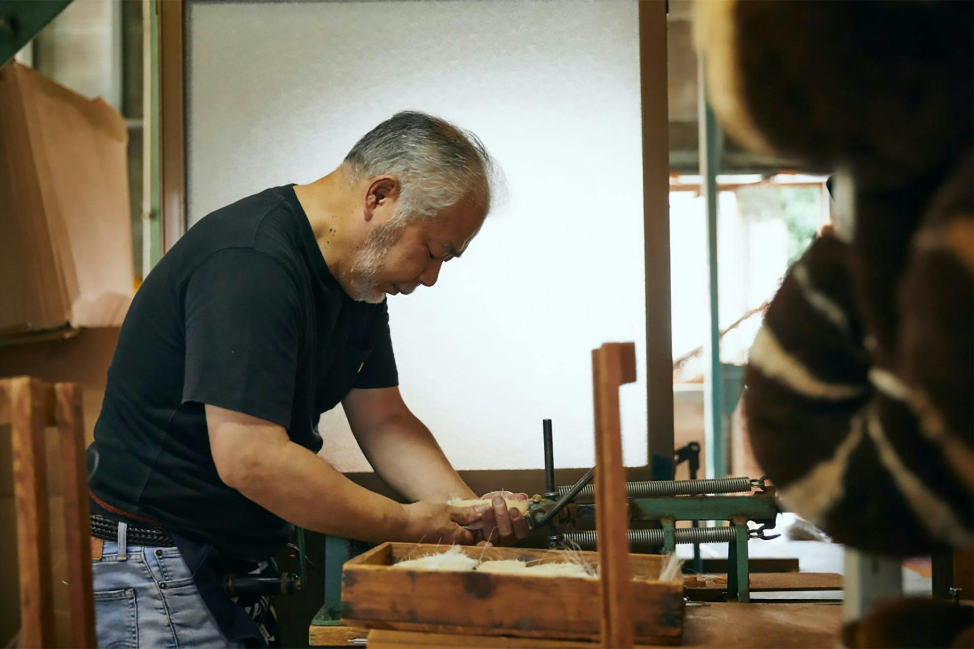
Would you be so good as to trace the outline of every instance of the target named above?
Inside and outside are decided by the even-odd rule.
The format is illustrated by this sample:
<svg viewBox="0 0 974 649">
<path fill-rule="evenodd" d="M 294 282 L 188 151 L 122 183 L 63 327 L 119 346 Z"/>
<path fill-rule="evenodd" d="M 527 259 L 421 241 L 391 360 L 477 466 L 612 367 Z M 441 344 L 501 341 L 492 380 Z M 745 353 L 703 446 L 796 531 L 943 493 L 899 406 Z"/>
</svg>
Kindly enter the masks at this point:
<svg viewBox="0 0 974 649">
<path fill-rule="evenodd" d="M 190 228 L 135 294 L 88 451 L 92 491 L 229 554 L 273 554 L 291 527 L 220 480 L 204 403 L 317 452 L 321 412 L 397 383 L 386 303 L 346 295 L 293 188 L 265 190 Z"/>
</svg>

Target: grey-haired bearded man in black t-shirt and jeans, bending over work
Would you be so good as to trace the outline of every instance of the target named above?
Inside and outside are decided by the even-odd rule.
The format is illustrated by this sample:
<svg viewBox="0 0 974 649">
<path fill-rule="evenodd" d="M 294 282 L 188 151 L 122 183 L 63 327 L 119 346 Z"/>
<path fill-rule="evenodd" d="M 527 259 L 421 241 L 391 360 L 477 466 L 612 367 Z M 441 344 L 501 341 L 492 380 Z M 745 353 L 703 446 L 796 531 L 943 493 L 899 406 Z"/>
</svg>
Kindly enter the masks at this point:
<svg viewBox="0 0 974 649">
<path fill-rule="evenodd" d="M 475 496 L 399 395 L 386 305 L 467 249 L 492 166 L 474 135 L 399 113 L 334 172 L 212 212 L 159 262 L 89 449 L 99 644 L 273 643 L 266 598 L 234 603 L 221 583 L 273 570 L 291 523 L 368 542 L 523 538 L 503 497 L 523 495 L 446 504 Z M 338 402 L 411 504 L 316 455 L 318 416 Z M 477 536 L 464 527 L 481 519 Z"/>
</svg>

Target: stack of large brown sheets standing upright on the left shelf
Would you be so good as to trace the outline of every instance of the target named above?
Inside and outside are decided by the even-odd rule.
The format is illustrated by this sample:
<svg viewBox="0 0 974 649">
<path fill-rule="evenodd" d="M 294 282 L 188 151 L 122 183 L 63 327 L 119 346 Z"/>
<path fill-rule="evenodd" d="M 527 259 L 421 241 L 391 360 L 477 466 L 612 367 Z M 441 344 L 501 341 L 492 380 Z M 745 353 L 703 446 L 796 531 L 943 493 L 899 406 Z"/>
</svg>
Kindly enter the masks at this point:
<svg viewBox="0 0 974 649">
<path fill-rule="evenodd" d="M 120 325 L 132 296 L 125 119 L 0 68 L 0 336 Z"/>
</svg>

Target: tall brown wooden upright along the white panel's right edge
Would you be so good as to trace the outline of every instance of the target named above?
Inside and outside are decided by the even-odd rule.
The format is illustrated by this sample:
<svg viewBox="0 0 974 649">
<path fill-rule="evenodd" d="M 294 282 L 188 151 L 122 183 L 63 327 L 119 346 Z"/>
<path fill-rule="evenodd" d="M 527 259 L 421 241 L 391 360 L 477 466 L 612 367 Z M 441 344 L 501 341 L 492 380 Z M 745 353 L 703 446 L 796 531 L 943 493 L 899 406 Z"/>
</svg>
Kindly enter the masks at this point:
<svg viewBox="0 0 974 649">
<path fill-rule="evenodd" d="M 646 267 L 646 404 L 653 479 L 673 478 L 673 343 L 670 308 L 669 115 L 666 3 L 639 3 Z"/>
</svg>

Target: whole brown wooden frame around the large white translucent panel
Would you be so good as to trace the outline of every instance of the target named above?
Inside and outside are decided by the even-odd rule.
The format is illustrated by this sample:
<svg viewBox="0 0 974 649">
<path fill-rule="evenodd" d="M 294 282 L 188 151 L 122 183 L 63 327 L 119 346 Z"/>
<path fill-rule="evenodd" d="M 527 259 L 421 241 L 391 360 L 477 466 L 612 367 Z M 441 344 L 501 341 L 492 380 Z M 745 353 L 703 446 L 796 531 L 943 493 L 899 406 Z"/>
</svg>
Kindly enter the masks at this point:
<svg viewBox="0 0 974 649">
<path fill-rule="evenodd" d="M 157 0 L 161 95 L 162 210 L 165 253 L 186 231 L 185 12 L 183 0 Z M 666 3 L 639 3 L 639 65 L 642 103 L 643 224 L 646 267 L 647 464 L 627 468 L 630 479 L 673 477 L 673 354 L 670 309 L 669 118 L 667 110 Z M 579 350 L 581 354 L 582 350 Z M 540 433 L 540 431 L 539 431 Z M 543 457 L 541 435 L 538 457 Z M 567 483 L 586 469 L 559 469 Z M 474 491 L 504 485 L 543 491 L 542 469 L 462 471 Z M 349 474 L 356 482 L 392 495 L 374 473 Z"/>
</svg>

